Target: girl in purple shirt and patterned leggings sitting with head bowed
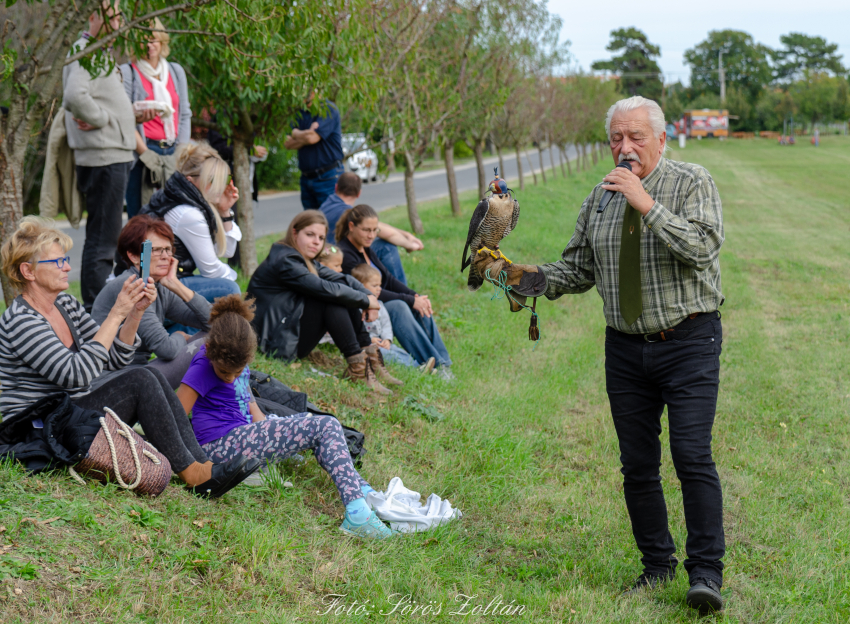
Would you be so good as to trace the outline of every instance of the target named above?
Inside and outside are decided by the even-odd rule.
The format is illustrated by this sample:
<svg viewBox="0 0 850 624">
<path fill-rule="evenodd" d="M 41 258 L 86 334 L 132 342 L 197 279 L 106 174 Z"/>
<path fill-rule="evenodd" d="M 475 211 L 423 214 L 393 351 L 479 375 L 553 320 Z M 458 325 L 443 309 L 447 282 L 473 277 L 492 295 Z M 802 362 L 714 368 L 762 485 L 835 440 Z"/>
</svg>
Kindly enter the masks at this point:
<svg viewBox="0 0 850 624">
<path fill-rule="evenodd" d="M 222 297 L 212 306 L 207 343 L 177 390 L 186 413 L 192 412 L 198 444 L 212 461 L 242 454 L 271 462 L 312 449 L 345 505 L 340 530 L 356 537 L 392 536 L 366 504 L 373 489 L 354 468 L 336 418 L 310 413 L 266 418 L 260 410 L 248 383 L 248 364 L 257 351 L 253 318 L 253 302 L 240 295 Z"/>
</svg>

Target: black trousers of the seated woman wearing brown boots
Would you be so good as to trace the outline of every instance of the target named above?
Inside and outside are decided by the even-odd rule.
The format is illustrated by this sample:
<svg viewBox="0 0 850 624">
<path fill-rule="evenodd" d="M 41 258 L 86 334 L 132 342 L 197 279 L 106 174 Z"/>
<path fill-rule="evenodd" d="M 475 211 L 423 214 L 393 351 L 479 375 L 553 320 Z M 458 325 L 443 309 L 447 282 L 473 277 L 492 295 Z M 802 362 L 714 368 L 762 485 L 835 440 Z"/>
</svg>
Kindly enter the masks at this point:
<svg viewBox="0 0 850 624">
<path fill-rule="evenodd" d="M 334 344 L 345 357 L 360 353 L 363 347 L 372 344 L 363 326 L 362 314 L 360 308 L 343 308 L 305 297 L 298 334 L 298 358 L 307 357 L 325 332 L 330 332 Z"/>
</svg>

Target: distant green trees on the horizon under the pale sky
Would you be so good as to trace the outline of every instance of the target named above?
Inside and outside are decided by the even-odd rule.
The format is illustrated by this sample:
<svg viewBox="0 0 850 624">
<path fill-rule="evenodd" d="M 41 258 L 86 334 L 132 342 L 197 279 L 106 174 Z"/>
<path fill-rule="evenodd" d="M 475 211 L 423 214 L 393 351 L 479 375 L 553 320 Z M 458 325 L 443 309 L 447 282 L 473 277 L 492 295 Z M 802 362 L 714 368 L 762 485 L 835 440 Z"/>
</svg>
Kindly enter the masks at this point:
<svg viewBox="0 0 850 624">
<path fill-rule="evenodd" d="M 779 130 L 786 119 L 809 127 L 850 119 L 848 68 L 838 45 L 823 37 L 789 33 L 777 49 L 756 42 L 740 30 L 714 30 L 685 51 L 690 86 L 663 84 L 658 46 L 636 28 L 611 32 L 608 50 L 615 55 L 593 64 L 595 70 L 619 76 L 620 89 L 659 101 L 668 121 L 688 108 L 721 106 L 722 53 L 726 78 L 723 107 L 734 118 L 732 130 Z"/>
</svg>

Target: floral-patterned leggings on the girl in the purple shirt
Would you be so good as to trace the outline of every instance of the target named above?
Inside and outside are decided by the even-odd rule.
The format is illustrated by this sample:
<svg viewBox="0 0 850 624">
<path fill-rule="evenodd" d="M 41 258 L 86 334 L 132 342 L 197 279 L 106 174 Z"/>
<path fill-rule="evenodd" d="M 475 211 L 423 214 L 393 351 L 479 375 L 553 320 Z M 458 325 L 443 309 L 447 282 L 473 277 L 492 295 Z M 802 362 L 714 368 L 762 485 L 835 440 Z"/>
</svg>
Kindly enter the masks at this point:
<svg viewBox="0 0 850 624">
<path fill-rule="evenodd" d="M 360 486 L 369 485 L 354 468 L 342 426 L 333 416 L 304 413 L 267 418 L 237 427 L 201 448 L 215 463 L 226 462 L 240 453 L 249 458 L 276 461 L 312 449 L 316 461 L 339 490 L 343 505 L 362 498 Z"/>
</svg>

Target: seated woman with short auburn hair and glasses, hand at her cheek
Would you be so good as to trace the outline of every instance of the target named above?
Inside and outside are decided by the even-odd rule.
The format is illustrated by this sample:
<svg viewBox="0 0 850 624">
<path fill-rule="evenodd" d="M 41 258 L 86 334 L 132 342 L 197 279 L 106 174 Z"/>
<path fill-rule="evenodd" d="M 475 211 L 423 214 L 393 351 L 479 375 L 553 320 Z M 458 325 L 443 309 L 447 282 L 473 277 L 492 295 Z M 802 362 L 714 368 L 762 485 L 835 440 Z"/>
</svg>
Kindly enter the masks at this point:
<svg viewBox="0 0 850 624">
<path fill-rule="evenodd" d="M 118 237 L 118 253 L 130 268 L 103 287 L 95 299 L 91 315 L 95 321 L 102 323 L 121 293 L 121 284 L 130 276 L 139 276 L 145 240 L 151 241 L 150 276 L 156 286 L 157 298 L 145 310 L 139 323 L 138 334 L 142 344 L 136 349 L 133 364 L 159 370 L 168 385 L 176 390 L 189 370 L 192 357 L 206 338 L 210 304 L 177 278 L 174 234 L 165 221 L 150 215 L 137 215 L 127 222 Z M 169 334 L 165 328 L 166 319 L 202 333 L 189 335 L 175 331 Z M 156 355 L 156 359 L 150 360 L 151 354 Z"/>
</svg>

